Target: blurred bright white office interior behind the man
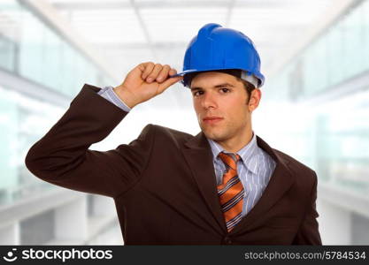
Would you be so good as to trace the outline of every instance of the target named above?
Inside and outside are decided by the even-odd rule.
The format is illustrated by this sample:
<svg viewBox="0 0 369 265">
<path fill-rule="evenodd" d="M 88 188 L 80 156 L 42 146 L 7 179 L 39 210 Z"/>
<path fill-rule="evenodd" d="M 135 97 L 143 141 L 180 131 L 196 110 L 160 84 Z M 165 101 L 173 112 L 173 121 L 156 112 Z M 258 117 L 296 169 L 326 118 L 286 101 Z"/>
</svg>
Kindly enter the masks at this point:
<svg viewBox="0 0 369 265">
<path fill-rule="evenodd" d="M 111 198 L 43 182 L 25 155 L 83 84 L 118 86 L 147 61 L 181 71 L 210 22 L 255 43 L 265 86 L 254 132 L 317 172 L 323 244 L 369 244 L 369 0 L 2 0 L 0 245 L 123 244 Z M 90 149 L 148 123 L 200 130 L 178 83 Z"/>
</svg>

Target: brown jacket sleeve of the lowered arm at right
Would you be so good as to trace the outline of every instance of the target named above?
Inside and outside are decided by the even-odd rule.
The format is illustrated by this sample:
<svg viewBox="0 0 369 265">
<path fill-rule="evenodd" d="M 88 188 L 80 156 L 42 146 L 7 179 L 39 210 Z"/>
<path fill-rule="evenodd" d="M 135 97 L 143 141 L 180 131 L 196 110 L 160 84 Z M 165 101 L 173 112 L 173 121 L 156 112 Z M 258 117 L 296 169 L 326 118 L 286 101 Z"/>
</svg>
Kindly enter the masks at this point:
<svg viewBox="0 0 369 265">
<path fill-rule="evenodd" d="M 315 172 L 313 178 L 311 199 L 309 200 L 304 221 L 296 234 L 293 245 L 322 245 L 319 234 L 319 223 L 317 221 L 317 217 L 319 216 L 316 210 L 318 178 Z"/>
</svg>

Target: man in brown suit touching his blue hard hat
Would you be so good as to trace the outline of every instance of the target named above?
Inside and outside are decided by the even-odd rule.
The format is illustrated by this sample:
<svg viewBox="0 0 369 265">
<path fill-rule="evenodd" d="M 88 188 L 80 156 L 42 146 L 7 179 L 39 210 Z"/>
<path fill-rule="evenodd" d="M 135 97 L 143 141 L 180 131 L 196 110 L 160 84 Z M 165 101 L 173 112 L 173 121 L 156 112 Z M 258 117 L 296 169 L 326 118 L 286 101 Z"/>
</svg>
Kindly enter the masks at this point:
<svg viewBox="0 0 369 265">
<path fill-rule="evenodd" d="M 188 45 L 184 72 L 148 62 L 118 87 L 85 85 L 29 150 L 27 168 L 113 198 L 126 245 L 320 245 L 315 172 L 252 131 L 259 67 L 247 36 L 207 24 Z M 179 80 L 190 87 L 201 133 L 147 125 L 129 145 L 88 149 Z"/>
</svg>

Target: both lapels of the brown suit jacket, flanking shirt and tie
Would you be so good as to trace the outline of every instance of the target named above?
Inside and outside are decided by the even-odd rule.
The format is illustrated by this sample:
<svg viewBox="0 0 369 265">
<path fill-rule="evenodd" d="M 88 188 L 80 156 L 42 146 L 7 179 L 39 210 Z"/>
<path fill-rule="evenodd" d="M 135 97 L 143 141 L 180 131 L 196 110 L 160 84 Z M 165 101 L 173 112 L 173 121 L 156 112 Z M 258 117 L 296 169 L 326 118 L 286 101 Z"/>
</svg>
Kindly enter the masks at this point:
<svg viewBox="0 0 369 265">
<path fill-rule="evenodd" d="M 247 228 L 251 223 L 257 222 L 258 217 L 272 208 L 274 203 L 281 199 L 283 193 L 286 193 L 295 181 L 294 176 L 288 169 L 288 162 L 281 158 L 281 155 L 278 155 L 273 148 L 269 147 L 258 136 L 257 141 L 258 147 L 262 148 L 266 154 L 273 158 L 276 166 L 269 180 L 269 184 L 265 187 L 263 195 L 250 212 L 242 218 L 242 221 L 234 227 L 230 232 L 231 234 L 238 233 Z M 219 223 L 220 229 L 223 232 L 227 232 L 226 223 L 219 204 L 211 147 L 204 133 L 198 133 L 194 138 L 188 140 L 182 151 L 196 180 L 196 184 L 204 197 L 204 201 L 206 201 L 208 207 L 211 209 L 211 213 L 217 220 L 217 223 Z"/>
</svg>

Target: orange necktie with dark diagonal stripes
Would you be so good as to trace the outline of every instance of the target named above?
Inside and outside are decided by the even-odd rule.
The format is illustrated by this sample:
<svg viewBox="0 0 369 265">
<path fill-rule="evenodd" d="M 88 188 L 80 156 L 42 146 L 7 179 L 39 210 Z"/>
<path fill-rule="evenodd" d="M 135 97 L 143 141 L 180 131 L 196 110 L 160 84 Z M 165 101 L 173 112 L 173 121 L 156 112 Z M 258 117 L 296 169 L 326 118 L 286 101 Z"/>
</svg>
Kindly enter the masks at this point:
<svg viewBox="0 0 369 265">
<path fill-rule="evenodd" d="M 227 169 L 223 175 L 222 184 L 218 186 L 218 195 L 227 231 L 229 232 L 242 219 L 244 190 L 237 175 L 237 161 L 240 160 L 240 155 L 221 152 L 219 157 L 225 163 Z"/>
</svg>

